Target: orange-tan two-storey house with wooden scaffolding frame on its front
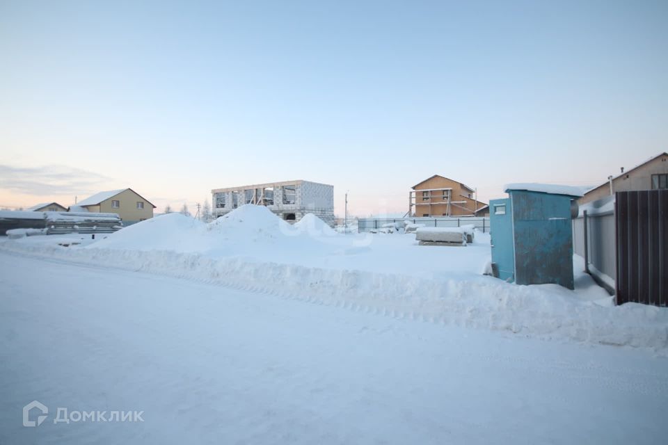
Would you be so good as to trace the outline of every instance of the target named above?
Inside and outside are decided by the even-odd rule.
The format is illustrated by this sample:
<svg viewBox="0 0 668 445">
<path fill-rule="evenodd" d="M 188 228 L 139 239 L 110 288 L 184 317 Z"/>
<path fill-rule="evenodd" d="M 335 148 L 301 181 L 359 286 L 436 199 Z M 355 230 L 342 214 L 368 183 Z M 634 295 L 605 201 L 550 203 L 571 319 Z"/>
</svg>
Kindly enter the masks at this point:
<svg viewBox="0 0 668 445">
<path fill-rule="evenodd" d="M 475 190 L 459 181 L 434 175 L 408 193 L 409 216 L 485 216 L 486 203 L 475 200 Z"/>
</svg>

